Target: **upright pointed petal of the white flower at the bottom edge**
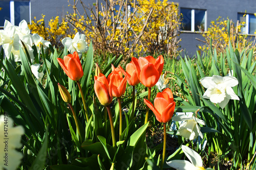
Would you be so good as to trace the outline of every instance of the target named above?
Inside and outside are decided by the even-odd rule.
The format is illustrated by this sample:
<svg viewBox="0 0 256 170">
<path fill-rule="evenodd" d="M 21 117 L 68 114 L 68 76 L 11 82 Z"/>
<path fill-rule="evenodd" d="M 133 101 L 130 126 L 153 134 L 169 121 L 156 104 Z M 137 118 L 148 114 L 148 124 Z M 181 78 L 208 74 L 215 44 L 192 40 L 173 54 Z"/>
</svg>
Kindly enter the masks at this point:
<svg viewBox="0 0 256 170">
<path fill-rule="evenodd" d="M 190 162 L 196 167 L 202 167 L 203 162 L 201 156 L 195 152 L 194 150 L 188 148 L 186 145 L 181 146 L 182 151 L 186 155 L 186 157 L 190 160 Z"/>
</svg>

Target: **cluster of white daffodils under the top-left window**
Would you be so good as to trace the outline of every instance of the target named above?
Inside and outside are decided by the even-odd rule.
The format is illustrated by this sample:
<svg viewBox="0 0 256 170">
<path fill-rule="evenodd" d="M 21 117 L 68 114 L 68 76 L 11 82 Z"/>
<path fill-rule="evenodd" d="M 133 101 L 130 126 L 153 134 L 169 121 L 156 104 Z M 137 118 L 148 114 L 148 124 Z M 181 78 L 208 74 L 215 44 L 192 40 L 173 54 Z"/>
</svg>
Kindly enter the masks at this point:
<svg viewBox="0 0 256 170">
<path fill-rule="evenodd" d="M 33 62 L 33 44 L 36 45 L 38 51 L 41 45 L 43 45 L 45 49 L 46 46 L 49 46 L 50 42 L 44 40 L 38 34 L 31 35 L 26 20 L 20 21 L 18 26 L 13 26 L 11 22 L 5 20 L 4 30 L 0 30 L 0 45 L 3 45 L 7 59 L 9 59 L 11 53 L 13 53 L 15 62 L 20 61 L 20 45 L 24 52 L 25 47 L 27 48 L 31 62 Z"/>
</svg>

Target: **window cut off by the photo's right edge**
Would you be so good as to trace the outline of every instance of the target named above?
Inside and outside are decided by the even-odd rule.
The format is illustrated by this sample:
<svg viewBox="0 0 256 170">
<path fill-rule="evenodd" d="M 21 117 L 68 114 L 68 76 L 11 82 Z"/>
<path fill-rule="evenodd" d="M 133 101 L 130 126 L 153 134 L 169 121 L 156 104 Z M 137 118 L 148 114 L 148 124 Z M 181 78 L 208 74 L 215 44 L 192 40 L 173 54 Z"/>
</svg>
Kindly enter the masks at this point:
<svg viewBox="0 0 256 170">
<path fill-rule="evenodd" d="M 256 17 L 254 14 L 238 13 L 238 20 L 244 27 L 241 28 L 242 34 L 254 34 L 256 30 Z"/>
</svg>

